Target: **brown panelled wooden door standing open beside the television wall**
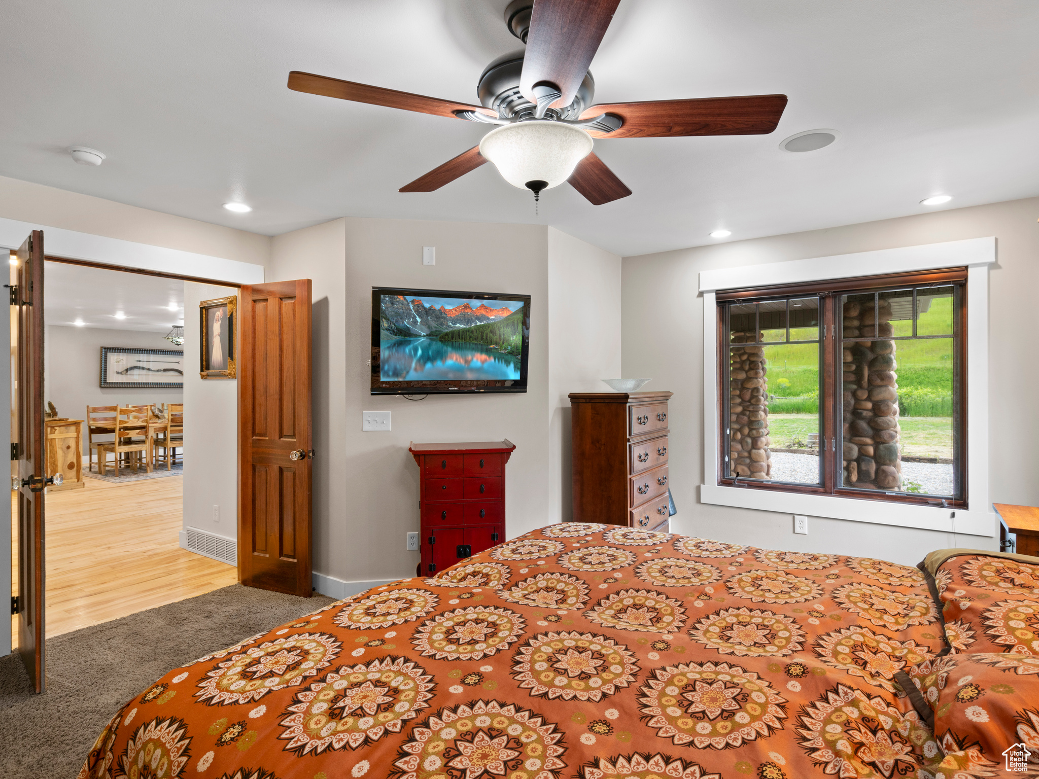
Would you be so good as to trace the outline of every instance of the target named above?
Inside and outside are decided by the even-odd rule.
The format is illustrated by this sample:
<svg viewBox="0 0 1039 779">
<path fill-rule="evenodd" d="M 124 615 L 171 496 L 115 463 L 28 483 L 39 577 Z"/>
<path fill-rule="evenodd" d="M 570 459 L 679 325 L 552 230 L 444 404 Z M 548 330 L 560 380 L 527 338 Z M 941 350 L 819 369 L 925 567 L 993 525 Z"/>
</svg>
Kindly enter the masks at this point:
<svg viewBox="0 0 1039 779">
<path fill-rule="evenodd" d="M 310 597 L 311 279 L 242 287 L 238 575 Z"/>
</svg>

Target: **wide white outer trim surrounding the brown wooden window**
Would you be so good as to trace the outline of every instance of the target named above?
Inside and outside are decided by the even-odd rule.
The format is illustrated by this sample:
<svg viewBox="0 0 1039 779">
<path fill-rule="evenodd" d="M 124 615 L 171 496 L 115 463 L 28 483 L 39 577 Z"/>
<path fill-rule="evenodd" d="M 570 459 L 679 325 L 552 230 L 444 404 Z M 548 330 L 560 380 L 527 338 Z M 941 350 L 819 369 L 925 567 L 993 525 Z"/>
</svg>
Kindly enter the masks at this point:
<svg viewBox="0 0 1039 779">
<path fill-rule="evenodd" d="M 825 237 L 819 239 L 824 242 Z M 996 262 L 996 240 L 993 236 L 968 238 L 942 243 L 930 243 L 915 246 L 896 246 L 893 248 L 858 251 L 847 254 L 831 254 L 806 259 L 788 260 L 797 257 L 793 245 L 779 243 L 772 252 L 780 258 L 772 262 L 753 263 L 751 258 L 761 257 L 752 244 L 741 249 L 741 244 L 735 244 L 724 263 L 716 263 L 715 267 L 698 273 L 697 289 L 700 292 L 702 305 L 702 327 L 698 327 L 702 339 L 702 370 L 700 372 L 700 395 L 702 405 L 702 430 L 700 444 L 702 449 L 701 482 L 699 503 L 703 509 L 703 517 L 710 521 L 711 506 L 727 506 L 750 509 L 760 513 L 764 519 L 776 514 L 784 514 L 790 519 L 792 514 L 805 514 L 814 517 L 825 517 L 846 521 L 870 522 L 872 525 L 887 525 L 902 528 L 937 531 L 954 534 L 936 543 L 948 545 L 971 545 L 981 543 L 968 538 L 957 536 L 997 536 L 997 521 L 989 500 L 989 322 L 988 268 Z M 803 254 L 802 254 L 803 257 Z M 753 264 L 740 265 L 749 262 Z M 793 285 L 819 284 L 819 289 L 825 291 L 834 284 L 850 286 L 852 279 L 863 278 L 862 269 L 870 268 L 873 275 L 885 273 L 925 272 L 955 267 L 967 267 L 967 307 L 969 310 L 969 327 L 966 330 L 964 344 L 969 354 L 969 360 L 964 366 L 964 378 L 967 392 L 964 403 L 970 414 L 970 435 L 965 439 L 965 464 L 967 473 L 966 490 L 969 505 L 966 509 L 941 508 L 887 502 L 865 501 L 858 498 L 844 498 L 830 494 L 801 494 L 780 490 L 748 489 L 740 486 L 719 485 L 717 483 L 718 437 L 718 322 L 716 295 L 732 290 L 754 287 L 769 287 L 779 292 Z M 846 280 L 847 279 L 847 280 Z M 878 508 L 883 510 L 878 511 Z M 766 513 L 769 512 L 769 513 Z M 991 541 L 986 544 L 992 543 Z"/>
</svg>

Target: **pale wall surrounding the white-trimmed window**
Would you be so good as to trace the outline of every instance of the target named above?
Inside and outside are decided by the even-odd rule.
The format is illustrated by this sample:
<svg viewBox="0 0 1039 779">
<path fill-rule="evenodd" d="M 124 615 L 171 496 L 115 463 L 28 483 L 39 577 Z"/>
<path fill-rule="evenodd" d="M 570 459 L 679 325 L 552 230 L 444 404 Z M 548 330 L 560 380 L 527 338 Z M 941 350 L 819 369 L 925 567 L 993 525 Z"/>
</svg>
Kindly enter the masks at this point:
<svg viewBox="0 0 1039 779">
<path fill-rule="evenodd" d="M 794 535 L 789 514 L 699 504 L 697 485 L 704 479 L 703 320 L 697 274 L 714 268 L 995 236 L 998 262 L 989 277 L 991 456 L 989 463 L 970 463 L 970 467 L 989 467 L 994 502 L 1035 506 L 1039 505 L 1039 481 L 1031 441 L 1039 436 L 1039 408 L 1021 401 L 1031 397 L 1022 387 L 1034 387 L 1039 380 L 1039 365 L 1023 358 L 1034 330 L 1033 298 L 1039 284 L 1037 216 L 1039 198 L 1032 198 L 624 258 L 623 373 L 652 376 L 655 388 L 674 393 L 670 484 L 678 513 L 672 517 L 672 528 L 724 541 L 872 555 L 910 565 L 935 548 L 994 547 L 997 539 L 820 517 L 810 518 L 807 536 Z M 877 510 L 883 511 L 883 506 L 878 504 Z"/>
</svg>

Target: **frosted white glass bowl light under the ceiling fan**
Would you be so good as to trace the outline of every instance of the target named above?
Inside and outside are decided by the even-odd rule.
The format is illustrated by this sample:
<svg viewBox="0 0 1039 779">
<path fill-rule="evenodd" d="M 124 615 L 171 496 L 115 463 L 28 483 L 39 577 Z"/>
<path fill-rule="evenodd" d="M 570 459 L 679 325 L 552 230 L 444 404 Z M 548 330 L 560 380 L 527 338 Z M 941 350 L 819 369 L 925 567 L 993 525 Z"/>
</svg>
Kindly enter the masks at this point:
<svg viewBox="0 0 1039 779">
<path fill-rule="evenodd" d="M 513 187 L 528 182 L 552 189 L 570 178 L 574 168 L 591 154 L 591 136 L 560 122 L 517 122 L 495 128 L 480 141 L 480 154 L 495 163 Z"/>
</svg>

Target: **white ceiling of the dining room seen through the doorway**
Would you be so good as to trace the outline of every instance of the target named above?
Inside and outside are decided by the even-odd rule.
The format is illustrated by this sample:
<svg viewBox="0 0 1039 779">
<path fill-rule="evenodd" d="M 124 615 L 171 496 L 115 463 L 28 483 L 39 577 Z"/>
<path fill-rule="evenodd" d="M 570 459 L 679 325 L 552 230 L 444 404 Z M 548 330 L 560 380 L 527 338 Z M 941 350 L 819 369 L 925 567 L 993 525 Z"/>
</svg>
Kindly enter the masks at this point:
<svg viewBox="0 0 1039 779">
<path fill-rule="evenodd" d="M 177 311 L 169 311 L 170 303 Z M 125 318 L 115 316 L 123 312 Z M 166 334 L 184 324 L 184 281 L 80 265 L 44 264 L 44 322 Z"/>
</svg>

